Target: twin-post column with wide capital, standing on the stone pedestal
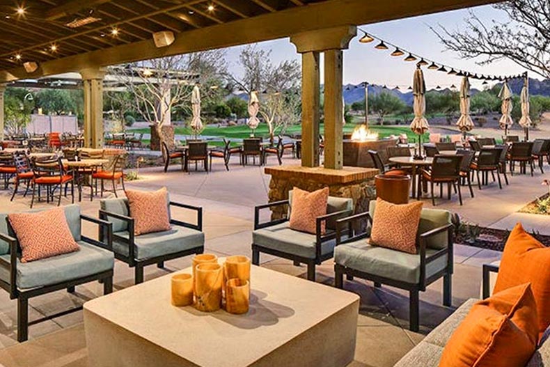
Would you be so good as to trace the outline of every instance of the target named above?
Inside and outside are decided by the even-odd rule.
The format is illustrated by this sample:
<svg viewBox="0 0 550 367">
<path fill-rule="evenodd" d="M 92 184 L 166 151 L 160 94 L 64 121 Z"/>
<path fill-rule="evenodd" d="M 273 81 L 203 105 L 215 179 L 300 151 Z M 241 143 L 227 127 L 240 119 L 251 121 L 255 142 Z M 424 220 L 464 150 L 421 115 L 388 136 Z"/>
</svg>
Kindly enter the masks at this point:
<svg viewBox="0 0 550 367">
<path fill-rule="evenodd" d="M 343 167 L 342 49 L 356 34 L 356 26 L 337 26 L 290 37 L 302 54 L 302 166 L 319 165 L 319 54 L 324 52 L 324 167 Z"/>
</svg>

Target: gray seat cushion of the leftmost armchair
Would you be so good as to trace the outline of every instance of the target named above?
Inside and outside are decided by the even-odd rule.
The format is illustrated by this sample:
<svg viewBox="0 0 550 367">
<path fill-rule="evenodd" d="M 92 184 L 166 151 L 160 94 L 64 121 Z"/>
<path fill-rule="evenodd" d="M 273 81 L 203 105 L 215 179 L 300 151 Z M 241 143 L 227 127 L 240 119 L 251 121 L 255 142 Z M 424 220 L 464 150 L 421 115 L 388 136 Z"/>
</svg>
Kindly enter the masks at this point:
<svg viewBox="0 0 550 367">
<path fill-rule="evenodd" d="M 114 256 L 111 251 L 100 249 L 86 242 L 77 242 L 80 251 L 21 263 L 17 260 L 17 287 L 20 289 L 51 286 L 52 284 L 79 279 L 84 276 L 112 270 Z M 9 255 L 1 256 L 10 261 Z M 10 272 L 0 267 L 0 279 L 10 281 Z"/>
</svg>

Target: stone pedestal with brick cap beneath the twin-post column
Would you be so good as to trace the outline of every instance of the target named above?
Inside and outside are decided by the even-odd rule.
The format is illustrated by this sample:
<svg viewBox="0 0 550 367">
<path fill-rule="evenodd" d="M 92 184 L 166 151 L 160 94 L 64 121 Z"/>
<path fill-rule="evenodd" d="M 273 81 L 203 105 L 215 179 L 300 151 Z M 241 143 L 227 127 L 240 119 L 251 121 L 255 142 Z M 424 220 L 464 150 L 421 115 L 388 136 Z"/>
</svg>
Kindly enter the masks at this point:
<svg viewBox="0 0 550 367">
<path fill-rule="evenodd" d="M 328 186 L 331 196 L 352 198 L 354 213 L 366 212 L 368 203 L 375 198 L 375 175 L 377 169 L 347 167 L 343 169 L 324 169 L 323 167 L 278 166 L 266 167 L 265 173 L 271 175 L 269 182 L 269 201 L 288 199 L 293 187 L 309 192 Z M 272 208 L 272 219 L 286 215 L 287 208 Z"/>
</svg>

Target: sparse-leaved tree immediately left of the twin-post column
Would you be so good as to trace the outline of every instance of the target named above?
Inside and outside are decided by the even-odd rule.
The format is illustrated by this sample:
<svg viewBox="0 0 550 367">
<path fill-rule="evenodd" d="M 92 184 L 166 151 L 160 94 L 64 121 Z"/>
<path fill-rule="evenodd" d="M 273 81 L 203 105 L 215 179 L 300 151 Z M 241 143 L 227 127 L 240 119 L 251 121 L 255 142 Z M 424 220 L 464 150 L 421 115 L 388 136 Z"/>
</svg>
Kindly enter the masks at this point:
<svg viewBox="0 0 550 367">
<path fill-rule="evenodd" d="M 301 69 L 296 60 L 274 64 L 271 54 L 271 50 L 259 49 L 256 45 L 244 47 L 239 55 L 242 77 L 228 74 L 228 79 L 235 88 L 248 95 L 258 91 L 260 116 L 267 123 L 269 139 L 273 143 L 275 134 L 299 123 Z"/>
</svg>

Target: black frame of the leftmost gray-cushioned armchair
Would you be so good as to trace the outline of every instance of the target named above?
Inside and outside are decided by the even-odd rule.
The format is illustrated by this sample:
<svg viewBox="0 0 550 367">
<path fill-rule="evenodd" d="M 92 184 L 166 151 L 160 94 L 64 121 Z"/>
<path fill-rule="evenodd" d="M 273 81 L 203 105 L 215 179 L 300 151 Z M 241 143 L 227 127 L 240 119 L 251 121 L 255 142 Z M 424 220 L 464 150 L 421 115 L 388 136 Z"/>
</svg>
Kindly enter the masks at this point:
<svg viewBox="0 0 550 367">
<path fill-rule="evenodd" d="M 113 224 L 111 224 L 109 221 L 88 217 L 87 215 L 83 214 L 81 214 L 80 219 L 90 221 L 94 224 L 99 225 L 100 228 L 102 228 L 102 230 L 107 233 L 107 243 L 93 240 L 92 238 L 86 237 L 84 235 L 81 235 L 81 240 L 88 244 L 92 244 L 93 246 L 112 251 Z M 8 228 L 10 228 L 10 231 L 13 232 L 9 221 Z M 31 299 L 32 297 L 45 295 L 47 293 L 56 292 L 57 290 L 62 289 L 67 289 L 68 292 L 73 293 L 75 286 L 89 283 L 91 281 L 100 281 L 103 283 L 104 295 L 108 295 L 113 291 L 113 270 L 109 270 L 107 272 L 99 272 L 81 278 L 71 279 L 70 281 L 63 281 L 61 283 L 52 284 L 50 286 L 42 286 L 37 288 L 30 288 L 29 290 L 21 290 L 17 287 L 17 257 L 19 256 L 19 242 L 14 235 L 7 235 L 5 233 L 0 233 L 0 240 L 7 242 L 10 247 L 10 260 L 8 261 L 0 258 L 0 267 L 3 267 L 10 272 L 10 281 L 6 282 L 0 280 L 0 287 L 10 294 L 10 299 L 17 299 L 17 341 L 19 341 L 19 343 L 26 341 L 29 338 L 29 326 L 38 324 L 39 322 L 52 320 L 59 316 L 67 315 L 68 313 L 73 313 L 82 309 L 82 306 L 78 306 L 67 311 L 62 311 L 61 313 L 57 313 L 55 315 L 47 315 L 45 318 L 40 318 L 38 320 L 33 320 L 29 322 L 29 299 Z"/>
</svg>

